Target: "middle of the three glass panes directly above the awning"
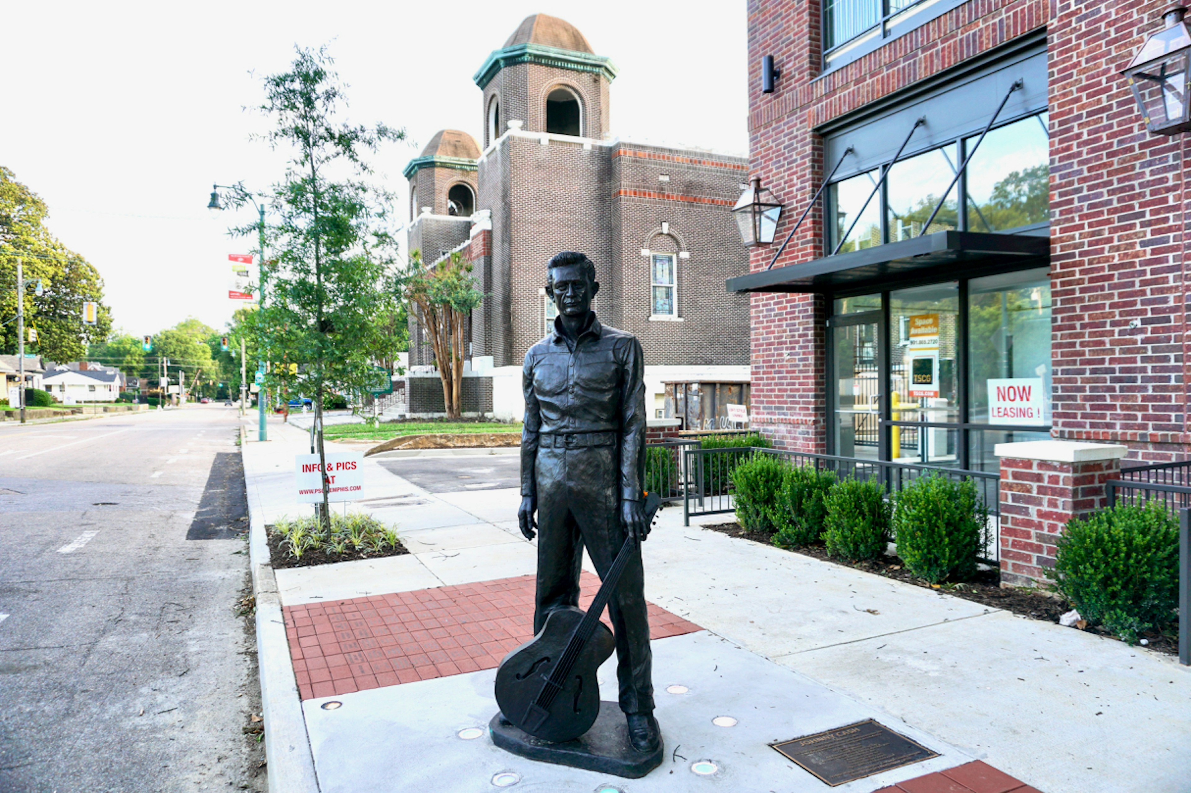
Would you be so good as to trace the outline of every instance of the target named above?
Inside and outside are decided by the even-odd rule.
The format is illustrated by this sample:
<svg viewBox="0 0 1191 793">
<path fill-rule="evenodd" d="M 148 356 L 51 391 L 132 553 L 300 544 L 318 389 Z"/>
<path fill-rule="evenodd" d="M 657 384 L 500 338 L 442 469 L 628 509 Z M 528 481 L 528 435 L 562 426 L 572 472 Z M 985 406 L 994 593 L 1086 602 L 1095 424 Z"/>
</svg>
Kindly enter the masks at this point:
<svg viewBox="0 0 1191 793">
<path fill-rule="evenodd" d="M 911 239 L 922 233 L 923 224 L 952 183 L 959 162 L 955 146 L 942 146 L 903 160 L 890 168 L 888 217 L 890 242 Z M 927 233 L 955 229 L 959 221 L 959 204 L 953 187 L 947 200 L 930 221 Z"/>
</svg>

